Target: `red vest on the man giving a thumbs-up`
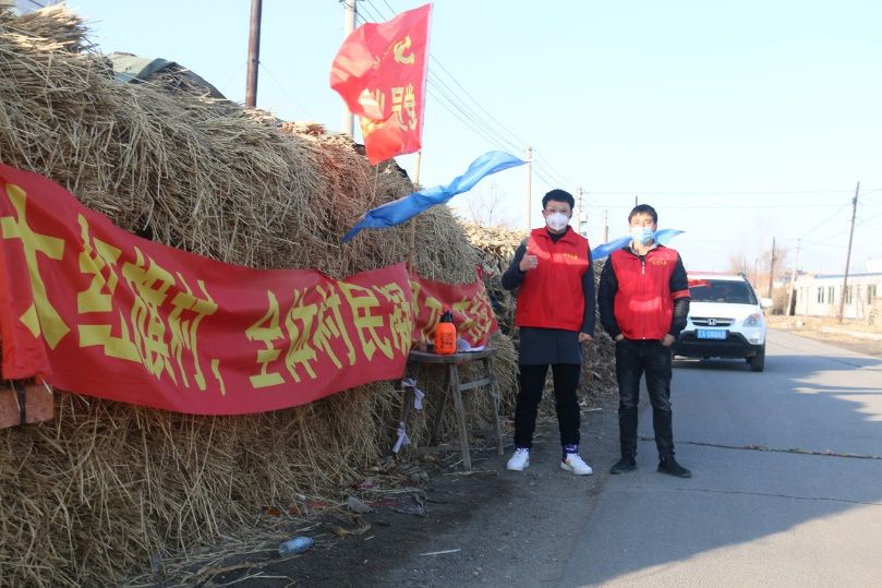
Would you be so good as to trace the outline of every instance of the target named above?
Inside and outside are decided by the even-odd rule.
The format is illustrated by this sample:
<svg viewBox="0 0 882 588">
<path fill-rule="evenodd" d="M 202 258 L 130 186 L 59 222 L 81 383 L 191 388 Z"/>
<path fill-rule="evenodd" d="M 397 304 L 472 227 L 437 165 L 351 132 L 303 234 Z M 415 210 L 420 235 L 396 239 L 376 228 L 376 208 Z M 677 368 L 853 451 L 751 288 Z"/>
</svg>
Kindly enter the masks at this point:
<svg viewBox="0 0 882 588">
<path fill-rule="evenodd" d="M 539 265 L 523 276 L 515 324 L 541 328 L 582 329 L 585 299 L 582 276 L 588 272 L 588 239 L 571 228 L 555 243 L 547 229 L 533 229 L 527 253 Z"/>
</svg>

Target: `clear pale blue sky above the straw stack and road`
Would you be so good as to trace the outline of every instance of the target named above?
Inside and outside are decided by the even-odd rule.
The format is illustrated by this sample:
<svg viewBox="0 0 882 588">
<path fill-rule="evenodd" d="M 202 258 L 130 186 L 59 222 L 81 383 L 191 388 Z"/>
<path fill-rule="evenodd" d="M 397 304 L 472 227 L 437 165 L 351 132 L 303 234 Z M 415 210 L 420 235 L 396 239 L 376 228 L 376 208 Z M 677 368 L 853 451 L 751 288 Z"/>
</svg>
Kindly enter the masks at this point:
<svg viewBox="0 0 882 588">
<path fill-rule="evenodd" d="M 70 1 L 101 50 L 179 61 L 239 101 L 250 3 Z M 376 21 L 421 2 L 360 4 Z M 661 227 L 687 231 L 672 243 L 687 267 L 725 269 L 732 256 L 751 265 L 774 236 L 790 257 L 804 238 L 800 268 L 841 273 L 861 181 L 851 268 L 863 271 L 882 257 L 880 22 L 873 0 L 440 0 L 421 182 L 446 183 L 486 151 L 530 144 L 533 226 L 544 192 L 581 187 L 595 242 L 606 214 L 611 238 L 626 232 L 637 196 Z M 328 71 L 342 5 L 264 0 L 262 33 L 258 106 L 339 130 Z M 398 160 L 412 171 L 413 156 Z M 452 205 L 468 215 L 492 194 L 497 218 L 524 226 L 524 168 Z"/>
</svg>

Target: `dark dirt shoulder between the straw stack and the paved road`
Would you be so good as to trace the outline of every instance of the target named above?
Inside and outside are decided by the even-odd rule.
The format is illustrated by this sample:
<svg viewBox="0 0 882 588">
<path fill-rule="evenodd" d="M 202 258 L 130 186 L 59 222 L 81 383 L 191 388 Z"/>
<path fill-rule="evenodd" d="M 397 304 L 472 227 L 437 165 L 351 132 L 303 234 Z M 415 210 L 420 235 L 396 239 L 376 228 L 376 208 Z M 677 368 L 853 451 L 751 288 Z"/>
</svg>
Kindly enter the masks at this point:
<svg viewBox="0 0 882 588">
<path fill-rule="evenodd" d="M 267 543 L 247 565 L 219 562 L 219 573 L 189 585 L 440 587 L 553 580 L 561 555 L 569 553 L 568 539 L 587 524 L 618 458 L 616 401 L 611 393 L 582 415 L 581 453 L 593 476 L 559 468 L 556 421 L 541 420 L 531 466 L 523 472 L 505 469 L 510 445 L 497 456 L 490 447 L 475 451 L 478 439 L 473 473 L 463 473 L 458 454 L 450 453 L 428 471 L 427 482 L 375 501 L 373 512 L 325 517 L 309 552 L 279 557 L 270 551 L 276 544 Z M 233 569 L 223 573 L 225 566 Z"/>
</svg>

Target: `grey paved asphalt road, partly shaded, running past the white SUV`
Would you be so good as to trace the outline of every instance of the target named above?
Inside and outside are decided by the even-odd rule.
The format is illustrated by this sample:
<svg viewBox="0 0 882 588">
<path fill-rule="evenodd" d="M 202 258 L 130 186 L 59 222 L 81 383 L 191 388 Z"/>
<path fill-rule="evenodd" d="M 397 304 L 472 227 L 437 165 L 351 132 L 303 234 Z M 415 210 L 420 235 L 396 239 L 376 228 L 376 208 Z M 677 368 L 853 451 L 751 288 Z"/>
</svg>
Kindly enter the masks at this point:
<svg viewBox="0 0 882 588">
<path fill-rule="evenodd" d="M 765 372 L 677 362 L 673 399 L 693 477 L 655 471 L 643 410 L 639 469 L 543 585 L 882 586 L 881 359 L 771 332 Z"/>
</svg>

